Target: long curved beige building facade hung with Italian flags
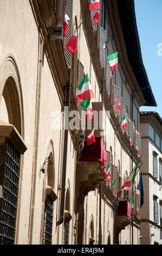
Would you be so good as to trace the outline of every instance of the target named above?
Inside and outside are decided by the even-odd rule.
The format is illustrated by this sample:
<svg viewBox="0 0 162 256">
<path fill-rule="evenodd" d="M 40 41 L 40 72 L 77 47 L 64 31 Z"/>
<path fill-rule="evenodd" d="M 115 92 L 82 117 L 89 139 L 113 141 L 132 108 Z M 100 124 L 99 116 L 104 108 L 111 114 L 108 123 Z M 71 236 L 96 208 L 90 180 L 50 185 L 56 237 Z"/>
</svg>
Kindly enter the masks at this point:
<svg viewBox="0 0 162 256">
<path fill-rule="evenodd" d="M 156 106 L 141 60 L 134 2 L 100 1 L 99 23 L 88 0 L 0 3 L 1 244 L 131 244 L 132 230 L 139 244 L 139 172 L 133 193 L 118 197 L 142 163 L 139 107 Z M 65 14 L 67 36 L 51 40 L 48 28 L 62 26 Z M 66 46 L 75 29 L 77 51 L 70 54 Z M 119 68 L 111 71 L 106 57 L 114 52 Z M 86 74 L 95 95 L 91 127 L 76 99 Z M 93 127 L 96 143 L 89 150 L 85 137 Z"/>
</svg>

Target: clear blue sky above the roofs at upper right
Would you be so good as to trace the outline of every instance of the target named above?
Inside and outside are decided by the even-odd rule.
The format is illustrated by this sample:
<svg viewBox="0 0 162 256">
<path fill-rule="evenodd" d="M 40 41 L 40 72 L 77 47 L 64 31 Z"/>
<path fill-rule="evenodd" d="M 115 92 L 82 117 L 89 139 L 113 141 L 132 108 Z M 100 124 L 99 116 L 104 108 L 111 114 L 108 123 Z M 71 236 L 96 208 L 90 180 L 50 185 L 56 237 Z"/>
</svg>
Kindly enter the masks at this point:
<svg viewBox="0 0 162 256">
<path fill-rule="evenodd" d="M 140 111 L 156 111 L 162 118 L 162 0 L 134 0 L 134 4 L 142 60 L 157 102 L 157 107 Z"/>
</svg>

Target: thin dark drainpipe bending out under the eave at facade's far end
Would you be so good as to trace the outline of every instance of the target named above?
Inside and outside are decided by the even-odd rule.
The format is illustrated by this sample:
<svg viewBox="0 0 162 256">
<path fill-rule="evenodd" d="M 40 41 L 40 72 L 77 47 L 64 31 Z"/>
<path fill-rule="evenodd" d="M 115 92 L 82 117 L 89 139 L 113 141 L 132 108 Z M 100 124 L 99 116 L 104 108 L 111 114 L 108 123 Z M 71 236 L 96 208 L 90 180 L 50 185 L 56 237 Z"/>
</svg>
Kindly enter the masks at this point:
<svg viewBox="0 0 162 256">
<path fill-rule="evenodd" d="M 144 88 L 140 88 L 140 89 L 137 89 L 137 90 L 133 90 L 132 91 L 132 107 L 131 107 L 131 110 L 132 110 L 132 113 L 131 113 L 131 121 L 133 122 L 133 103 L 134 103 L 134 93 L 135 92 L 138 92 L 139 90 L 144 90 L 144 89 L 148 89 L 149 88 L 149 85 L 147 87 L 144 87 Z M 131 154 L 131 161 L 132 161 L 132 172 L 133 172 L 133 145 L 132 145 L 132 154 Z M 133 203 L 133 186 L 132 186 L 132 203 Z M 133 222 L 134 222 L 134 215 L 133 215 L 133 208 L 131 209 L 132 210 L 132 216 L 131 216 L 131 220 L 132 220 L 132 245 L 133 245 Z"/>
</svg>

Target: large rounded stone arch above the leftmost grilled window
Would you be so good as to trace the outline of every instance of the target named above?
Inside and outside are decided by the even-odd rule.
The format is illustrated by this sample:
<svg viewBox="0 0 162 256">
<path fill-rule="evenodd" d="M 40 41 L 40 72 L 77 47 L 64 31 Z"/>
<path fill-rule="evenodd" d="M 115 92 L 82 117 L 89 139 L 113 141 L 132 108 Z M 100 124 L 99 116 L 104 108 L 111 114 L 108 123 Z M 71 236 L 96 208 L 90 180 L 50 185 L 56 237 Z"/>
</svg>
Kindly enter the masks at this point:
<svg viewBox="0 0 162 256">
<path fill-rule="evenodd" d="M 4 58 L 0 68 L 0 109 L 6 107 L 8 122 L 24 138 L 24 115 L 20 72 L 14 56 Z M 2 106 L 3 105 L 3 106 Z M 2 116 L 0 111 L 0 119 Z M 7 121 L 7 120 L 4 120 Z"/>
</svg>

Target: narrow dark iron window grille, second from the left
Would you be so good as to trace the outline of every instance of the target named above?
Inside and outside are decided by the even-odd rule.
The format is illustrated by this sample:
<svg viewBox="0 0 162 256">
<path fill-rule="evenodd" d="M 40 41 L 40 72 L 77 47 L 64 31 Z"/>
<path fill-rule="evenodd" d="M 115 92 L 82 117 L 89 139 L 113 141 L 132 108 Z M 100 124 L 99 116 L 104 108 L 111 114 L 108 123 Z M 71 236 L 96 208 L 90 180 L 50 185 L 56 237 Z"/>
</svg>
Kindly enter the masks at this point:
<svg viewBox="0 0 162 256">
<path fill-rule="evenodd" d="M 44 212 L 43 244 L 51 245 L 53 230 L 53 200 L 47 195 Z"/>
</svg>

